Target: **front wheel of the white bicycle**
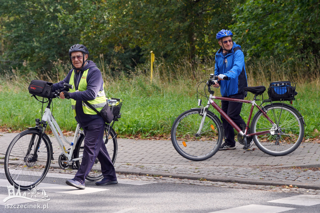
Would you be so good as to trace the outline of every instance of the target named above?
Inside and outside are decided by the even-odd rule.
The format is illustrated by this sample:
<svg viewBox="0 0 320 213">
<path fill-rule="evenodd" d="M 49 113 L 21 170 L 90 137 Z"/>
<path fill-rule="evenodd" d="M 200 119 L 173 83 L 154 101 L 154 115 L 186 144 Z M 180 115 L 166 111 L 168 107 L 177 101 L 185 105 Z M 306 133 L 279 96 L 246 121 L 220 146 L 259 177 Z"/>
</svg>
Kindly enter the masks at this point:
<svg viewBox="0 0 320 213">
<path fill-rule="evenodd" d="M 40 130 L 22 131 L 13 138 L 8 146 L 4 158 L 4 172 L 9 183 L 15 188 L 19 188 L 20 186 L 20 190 L 31 190 L 48 173 L 51 162 L 51 141 L 45 135 L 38 148 L 36 161 L 30 161 L 40 134 Z M 31 152 L 28 152 L 28 150 L 31 150 Z"/>
</svg>

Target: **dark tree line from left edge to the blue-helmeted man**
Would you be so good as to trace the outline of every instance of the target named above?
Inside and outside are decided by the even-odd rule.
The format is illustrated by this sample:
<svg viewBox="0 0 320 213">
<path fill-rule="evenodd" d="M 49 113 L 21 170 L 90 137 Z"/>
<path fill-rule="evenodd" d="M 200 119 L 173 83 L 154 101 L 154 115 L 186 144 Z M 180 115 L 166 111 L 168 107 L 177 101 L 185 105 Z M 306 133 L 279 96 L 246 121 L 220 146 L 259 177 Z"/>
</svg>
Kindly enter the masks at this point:
<svg viewBox="0 0 320 213">
<path fill-rule="evenodd" d="M 112 71 L 133 70 L 150 50 L 174 61 L 218 49 L 215 34 L 233 23 L 243 0 L 0 0 L 1 66 L 52 71 L 68 49 L 84 43 Z M 120 62 L 115 64 L 114 62 Z"/>
</svg>

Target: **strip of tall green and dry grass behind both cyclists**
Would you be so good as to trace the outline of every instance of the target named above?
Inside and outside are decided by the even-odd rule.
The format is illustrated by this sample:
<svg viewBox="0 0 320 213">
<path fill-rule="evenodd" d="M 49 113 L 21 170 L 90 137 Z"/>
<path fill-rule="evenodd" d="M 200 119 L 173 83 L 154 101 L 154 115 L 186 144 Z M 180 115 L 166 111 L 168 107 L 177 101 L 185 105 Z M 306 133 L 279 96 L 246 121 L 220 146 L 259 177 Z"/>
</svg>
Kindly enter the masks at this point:
<svg viewBox="0 0 320 213">
<path fill-rule="evenodd" d="M 306 136 L 318 137 L 320 119 L 320 64 L 319 59 L 307 63 L 300 59 L 291 63 L 282 63 L 274 58 L 247 59 L 246 71 L 249 86 L 268 85 L 272 81 L 289 80 L 297 82 L 298 95 L 293 101 L 306 121 Z M 214 60 L 187 59 L 175 64 L 167 64 L 162 58 L 155 61 L 153 79 L 150 79 L 150 64 L 140 64 L 134 72 L 123 72 L 117 61 L 105 64 L 103 59 L 97 62 L 105 82 L 108 97 L 122 98 L 122 118 L 114 128 L 122 136 L 168 137 L 174 119 L 183 111 L 197 107 L 196 83 L 208 79 L 214 73 Z M 290 64 L 290 66 L 288 65 Z M 62 80 L 68 73 L 69 65 L 62 61 L 54 62 L 54 75 L 35 76 L 32 71 L 21 75 L 18 70 L 4 72 L 0 78 L 0 126 L 14 130 L 23 130 L 34 125 L 34 119 L 40 117 L 41 103 L 30 98 L 27 87 L 31 79 L 43 79 L 52 82 Z M 125 74 L 126 73 L 126 74 Z M 203 94 L 203 87 L 200 88 Z M 220 95 L 220 90 L 215 90 Z M 265 92 L 264 98 L 267 98 Z M 252 99 L 248 94 L 246 99 Z M 206 100 L 204 97 L 201 99 Z M 205 102 L 205 101 L 204 101 Z M 248 118 L 249 105 L 244 105 L 241 115 Z M 211 108 L 212 110 L 213 108 Z M 214 110 L 212 110 L 214 112 Z M 216 113 L 216 112 L 215 112 Z M 70 101 L 55 99 L 53 114 L 62 129 L 75 129 Z"/>
</svg>

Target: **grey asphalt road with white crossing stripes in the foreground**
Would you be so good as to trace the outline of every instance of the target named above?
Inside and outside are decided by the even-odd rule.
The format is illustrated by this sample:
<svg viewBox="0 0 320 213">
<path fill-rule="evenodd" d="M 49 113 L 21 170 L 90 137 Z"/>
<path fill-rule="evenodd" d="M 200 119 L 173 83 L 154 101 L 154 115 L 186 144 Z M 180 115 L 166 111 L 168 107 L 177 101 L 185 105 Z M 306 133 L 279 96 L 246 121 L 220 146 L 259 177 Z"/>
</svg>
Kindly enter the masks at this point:
<svg viewBox="0 0 320 213">
<path fill-rule="evenodd" d="M 73 175 L 48 173 L 37 186 L 50 198 L 46 203 L 25 200 L 4 206 L 8 196 L 6 178 L 0 173 L 1 212 L 17 212 L 13 205 L 28 207 L 38 204 L 47 209 L 19 209 L 21 212 L 319 212 L 320 195 L 290 191 L 260 190 L 247 185 L 208 185 L 202 182 L 143 176 L 118 175 L 117 185 L 97 186 L 86 181 L 86 189 L 78 190 L 65 184 Z M 8 183 L 8 182 L 7 182 Z M 53 184 L 53 185 L 52 185 Z M 234 184 L 236 185 L 236 184 Z M 15 189 L 17 193 L 17 189 Z M 27 191 L 30 193 L 29 191 Z M 38 197 L 42 195 L 38 194 Z M 30 194 L 27 194 L 30 197 Z M 279 199 L 282 199 L 279 201 Z M 272 202 L 269 202 L 272 201 Z M 20 202 L 20 203 L 19 203 Z M 311 205 L 310 205 L 311 204 Z M 12 206 L 11 206 L 12 205 Z M 309 206 L 306 206 L 309 205 Z M 236 208 L 236 209 L 233 209 Z"/>
</svg>

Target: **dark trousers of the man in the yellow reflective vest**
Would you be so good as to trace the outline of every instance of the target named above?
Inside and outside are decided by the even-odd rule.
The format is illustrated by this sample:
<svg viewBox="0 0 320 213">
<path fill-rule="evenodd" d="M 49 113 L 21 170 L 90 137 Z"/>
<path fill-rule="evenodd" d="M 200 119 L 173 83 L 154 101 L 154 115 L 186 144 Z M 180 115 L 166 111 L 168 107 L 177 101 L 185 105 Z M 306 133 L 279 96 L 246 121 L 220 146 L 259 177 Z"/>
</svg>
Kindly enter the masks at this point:
<svg viewBox="0 0 320 213">
<path fill-rule="evenodd" d="M 83 131 L 85 135 L 83 157 L 74 179 L 84 183 L 85 177 L 89 174 L 95 159 L 98 157 L 103 177 L 112 181 L 116 180 L 115 168 L 103 142 L 104 124 L 92 124 L 83 127 Z"/>
</svg>

